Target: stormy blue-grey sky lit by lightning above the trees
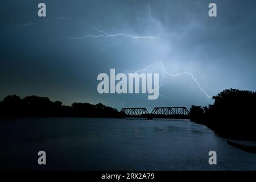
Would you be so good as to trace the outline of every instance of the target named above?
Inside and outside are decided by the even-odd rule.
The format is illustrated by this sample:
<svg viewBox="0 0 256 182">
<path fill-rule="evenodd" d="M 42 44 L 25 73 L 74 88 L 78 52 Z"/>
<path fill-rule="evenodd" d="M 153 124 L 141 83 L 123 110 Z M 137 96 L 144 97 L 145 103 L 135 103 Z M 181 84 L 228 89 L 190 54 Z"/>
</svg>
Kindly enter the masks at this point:
<svg viewBox="0 0 256 182">
<path fill-rule="evenodd" d="M 46 18 L 38 16 L 40 2 Z M 210 2 L 217 17 L 208 15 Z M 256 90 L 254 0 L 10 0 L 1 2 L 0 15 L 1 99 L 37 95 L 151 110 L 205 106 L 213 102 L 207 95 L 229 88 Z M 196 82 L 163 74 L 161 63 Z M 161 95 L 99 94 L 97 76 L 110 68 L 159 73 Z"/>
</svg>

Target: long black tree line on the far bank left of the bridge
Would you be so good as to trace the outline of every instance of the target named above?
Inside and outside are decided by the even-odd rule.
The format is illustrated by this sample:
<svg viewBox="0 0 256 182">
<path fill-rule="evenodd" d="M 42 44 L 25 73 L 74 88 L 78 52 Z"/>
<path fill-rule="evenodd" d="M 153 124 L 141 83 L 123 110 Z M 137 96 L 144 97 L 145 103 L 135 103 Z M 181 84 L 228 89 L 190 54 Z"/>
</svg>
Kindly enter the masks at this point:
<svg viewBox="0 0 256 182">
<path fill-rule="evenodd" d="M 62 102 L 52 102 L 48 97 L 28 96 L 20 98 L 12 95 L 0 101 L 0 117 L 123 117 L 117 109 L 101 103 L 74 102 L 64 106 Z"/>
</svg>

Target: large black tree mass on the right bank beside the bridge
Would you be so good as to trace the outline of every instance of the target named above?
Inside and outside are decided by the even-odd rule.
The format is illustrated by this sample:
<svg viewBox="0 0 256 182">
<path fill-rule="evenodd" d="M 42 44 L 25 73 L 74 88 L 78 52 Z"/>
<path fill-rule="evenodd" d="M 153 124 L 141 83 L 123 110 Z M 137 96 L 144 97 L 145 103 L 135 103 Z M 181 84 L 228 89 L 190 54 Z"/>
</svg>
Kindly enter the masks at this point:
<svg viewBox="0 0 256 182">
<path fill-rule="evenodd" d="M 190 117 L 223 137 L 256 139 L 256 92 L 226 89 L 208 107 L 192 106 Z"/>
</svg>

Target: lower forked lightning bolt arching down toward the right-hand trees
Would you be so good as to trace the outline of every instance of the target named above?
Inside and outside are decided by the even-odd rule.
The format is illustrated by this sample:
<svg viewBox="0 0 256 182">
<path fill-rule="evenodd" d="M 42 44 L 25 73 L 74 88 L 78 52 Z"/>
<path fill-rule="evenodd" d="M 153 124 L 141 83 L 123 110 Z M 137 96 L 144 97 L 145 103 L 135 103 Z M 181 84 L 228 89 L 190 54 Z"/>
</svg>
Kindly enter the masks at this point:
<svg viewBox="0 0 256 182">
<path fill-rule="evenodd" d="M 199 84 L 199 82 L 196 80 L 196 78 L 194 77 L 193 74 L 191 73 L 188 73 L 188 72 L 181 72 L 181 73 L 177 73 L 176 75 L 172 75 L 171 73 L 167 72 L 165 69 L 164 69 L 164 65 L 162 62 L 156 62 L 156 63 L 153 63 L 153 64 L 150 64 L 148 65 L 146 68 L 144 69 L 141 69 L 139 71 L 136 71 L 135 73 L 140 73 L 140 72 L 144 72 L 146 71 L 148 68 L 152 67 L 153 65 L 156 65 L 156 64 L 160 64 L 161 65 L 161 68 L 162 68 L 162 71 L 163 71 L 163 77 L 161 78 L 160 80 L 160 85 L 159 85 L 159 88 L 163 85 L 163 80 L 164 80 L 164 76 L 165 75 L 168 75 L 170 77 L 177 77 L 177 76 L 181 76 L 181 75 L 188 75 L 189 77 L 191 77 L 192 81 L 194 81 L 196 83 L 196 85 L 198 86 L 198 88 L 201 90 L 201 92 L 203 92 L 205 94 L 205 96 L 207 98 L 212 98 L 212 96 L 209 96 L 209 94 L 201 87 L 201 85 Z M 163 96 L 163 97 L 167 97 L 167 96 L 164 96 L 162 94 L 159 94 L 159 96 Z"/>
</svg>

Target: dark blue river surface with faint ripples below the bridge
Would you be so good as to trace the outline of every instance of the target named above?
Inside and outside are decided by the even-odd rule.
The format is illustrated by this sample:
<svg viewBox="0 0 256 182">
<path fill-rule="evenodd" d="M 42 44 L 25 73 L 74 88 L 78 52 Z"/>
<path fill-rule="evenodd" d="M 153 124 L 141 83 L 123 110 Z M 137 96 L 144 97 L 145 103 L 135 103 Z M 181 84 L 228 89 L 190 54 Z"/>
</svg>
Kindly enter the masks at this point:
<svg viewBox="0 0 256 182">
<path fill-rule="evenodd" d="M 181 119 L 1 119 L 0 149 L 1 169 L 256 169 L 256 154 Z M 46 166 L 37 163 L 40 150 Z M 217 165 L 210 166 L 212 150 Z"/>
</svg>

